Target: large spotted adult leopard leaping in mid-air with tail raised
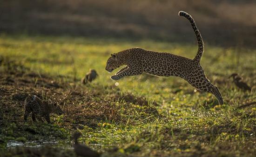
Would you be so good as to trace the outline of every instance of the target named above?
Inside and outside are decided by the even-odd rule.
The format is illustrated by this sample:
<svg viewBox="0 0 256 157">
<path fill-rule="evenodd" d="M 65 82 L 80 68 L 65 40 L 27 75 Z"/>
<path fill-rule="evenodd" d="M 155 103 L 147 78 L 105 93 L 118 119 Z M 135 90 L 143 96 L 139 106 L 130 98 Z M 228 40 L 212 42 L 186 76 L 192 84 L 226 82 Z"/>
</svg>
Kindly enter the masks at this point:
<svg viewBox="0 0 256 157">
<path fill-rule="evenodd" d="M 188 19 L 194 29 L 198 42 L 198 51 L 194 59 L 188 59 L 166 52 L 153 52 L 136 47 L 111 54 L 105 69 L 108 72 L 112 72 L 121 65 L 127 65 L 115 75 L 111 76 L 113 80 L 118 80 L 125 76 L 140 75 L 142 72 L 157 76 L 181 77 L 196 89 L 215 95 L 219 104 L 222 105 L 222 94 L 218 87 L 206 78 L 203 68 L 200 65 L 204 50 L 201 33 L 197 29 L 191 15 L 180 11 L 179 16 Z"/>
</svg>

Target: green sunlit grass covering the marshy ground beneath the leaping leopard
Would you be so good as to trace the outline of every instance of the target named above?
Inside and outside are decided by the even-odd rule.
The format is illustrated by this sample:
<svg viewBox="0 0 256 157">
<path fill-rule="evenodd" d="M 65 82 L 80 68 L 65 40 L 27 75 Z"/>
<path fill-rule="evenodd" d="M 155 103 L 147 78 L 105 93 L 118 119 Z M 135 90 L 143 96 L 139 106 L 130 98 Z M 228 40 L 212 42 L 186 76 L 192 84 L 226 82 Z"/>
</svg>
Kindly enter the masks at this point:
<svg viewBox="0 0 256 157">
<path fill-rule="evenodd" d="M 106 156 L 113 155 L 114 150 L 111 149 L 115 147 L 117 156 L 231 157 L 256 154 L 255 105 L 236 109 L 237 106 L 255 101 L 255 87 L 251 93 L 243 92 L 228 78 L 236 72 L 249 85 L 256 85 L 256 50 L 206 44 L 201 65 L 207 77 L 222 92 L 225 103 L 220 106 L 216 105 L 214 96 L 195 91 L 186 81 L 177 77 L 142 74 L 120 79 L 116 86 L 110 76 L 117 70 L 109 74 L 105 70 L 106 61 L 111 53 L 136 46 L 187 58 L 193 58 L 197 51 L 196 43 L 0 35 L 0 56 L 4 59 L 15 60 L 28 67 L 29 71 L 47 74 L 65 84 L 61 93 L 57 89 L 52 93 L 64 95 L 70 89 L 81 93 L 81 96 L 74 96 L 67 101 L 67 114 L 52 118 L 54 125 L 43 125 L 44 132 L 64 128 L 65 131 L 60 129 L 53 133 L 54 137 L 58 137 L 57 140 L 62 141 L 60 144 L 64 143 L 64 148 L 70 146 L 71 134 L 75 128 L 79 128 L 83 133 L 80 141 Z M 79 80 L 90 68 L 99 73 L 99 78 L 91 85 L 83 86 Z M 61 76 L 65 76 L 64 79 Z M 31 89 L 26 87 L 26 90 Z M 45 89 L 37 87 L 36 90 Z M 77 109 L 86 111 L 73 116 L 72 113 Z M 21 111 L 17 110 L 22 117 Z M 5 116 L 7 121 L 12 119 L 8 116 Z M 3 133 L 0 136 L 4 141 L 1 146 L 3 150 L 6 149 L 8 139 L 34 140 L 26 131 L 22 132 L 24 135 L 14 134 L 17 126 L 27 127 L 20 122 L 18 120 L 0 129 Z M 76 127 L 72 127 L 73 124 Z M 31 127 L 37 130 L 40 125 L 33 124 Z M 48 134 L 40 135 L 38 138 L 47 137 Z"/>
</svg>

